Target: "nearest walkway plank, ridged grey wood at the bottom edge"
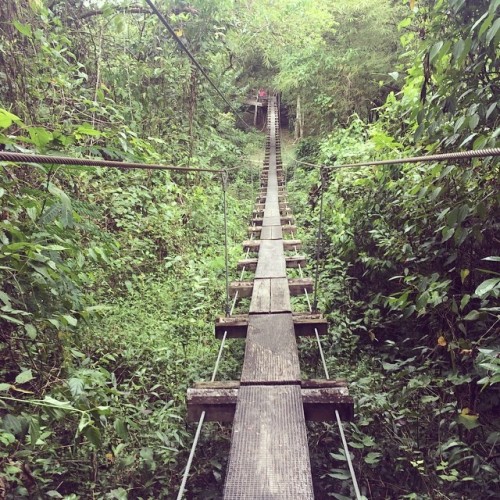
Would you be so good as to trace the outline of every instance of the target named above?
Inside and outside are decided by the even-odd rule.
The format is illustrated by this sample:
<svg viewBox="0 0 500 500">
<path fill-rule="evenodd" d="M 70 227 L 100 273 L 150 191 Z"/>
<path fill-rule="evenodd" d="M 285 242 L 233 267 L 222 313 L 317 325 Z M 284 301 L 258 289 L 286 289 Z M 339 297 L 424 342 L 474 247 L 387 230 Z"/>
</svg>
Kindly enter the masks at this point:
<svg viewBox="0 0 500 500">
<path fill-rule="evenodd" d="M 242 387 L 224 499 L 313 498 L 300 387 Z"/>
</svg>

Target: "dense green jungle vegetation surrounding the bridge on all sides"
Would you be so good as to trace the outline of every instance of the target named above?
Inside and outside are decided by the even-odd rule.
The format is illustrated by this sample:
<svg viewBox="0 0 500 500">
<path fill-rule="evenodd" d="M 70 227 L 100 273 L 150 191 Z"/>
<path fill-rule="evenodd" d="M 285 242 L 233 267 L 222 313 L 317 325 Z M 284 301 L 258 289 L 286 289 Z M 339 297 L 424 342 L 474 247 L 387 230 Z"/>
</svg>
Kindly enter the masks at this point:
<svg viewBox="0 0 500 500">
<path fill-rule="evenodd" d="M 498 147 L 500 0 L 157 5 L 242 113 L 255 89 L 281 93 L 310 275 L 323 196 L 323 342 L 355 398 L 363 495 L 498 498 L 498 161 L 323 179 L 314 165 Z M 235 269 L 264 136 L 147 4 L 2 1 L 0 34 L 0 149 L 234 168 Z M 186 389 L 219 345 L 220 176 L 0 167 L 0 499 L 173 498 L 194 433 Z M 321 378 L 314 343 L 299 349 Z M 242 352 L 229 343 L 220 379 L 239 378 Z M 317 498 L 352 498 L 335 427 L 308 427 Z M 220 498 L 230 432 L 204 427 L 188 498 Z"/>
</svg>

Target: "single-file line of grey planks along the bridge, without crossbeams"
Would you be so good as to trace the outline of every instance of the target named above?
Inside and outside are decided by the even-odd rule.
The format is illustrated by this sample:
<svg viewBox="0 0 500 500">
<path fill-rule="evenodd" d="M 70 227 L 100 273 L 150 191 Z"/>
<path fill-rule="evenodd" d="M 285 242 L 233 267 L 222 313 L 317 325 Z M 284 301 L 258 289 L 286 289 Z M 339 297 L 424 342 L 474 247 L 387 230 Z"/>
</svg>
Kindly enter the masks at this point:
<svg viewBox="0 0 500 500">
<path fill-rule="evenodd" d="M 225 499 L 314 498 L 277 172 L 277 108 L 269 99 L 269 169 Z M 259 221 L 260 222 L 260 221 Z"/>
</svg>

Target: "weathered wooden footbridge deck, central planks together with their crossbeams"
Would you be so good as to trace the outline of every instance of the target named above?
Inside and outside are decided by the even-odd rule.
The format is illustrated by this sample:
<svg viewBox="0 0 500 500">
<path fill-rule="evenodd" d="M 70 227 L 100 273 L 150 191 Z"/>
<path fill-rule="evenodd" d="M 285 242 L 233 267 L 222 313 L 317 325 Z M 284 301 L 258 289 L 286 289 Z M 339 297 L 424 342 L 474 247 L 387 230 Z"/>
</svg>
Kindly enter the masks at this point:
<svg viewBox="0 0 500 500">
<path fill-rule="evenodd" d="M 335 420 L 335 410 L 350 419 L 353 402 L 345 381 L 301 380 L 296 337 L 326 334 L 327 323 L 320 314 L 294 313 L 290 304 L 290 295 L 309 293 L 313 284 L 287 278 L 287 268 L 306 259 L 297 255 L 301 242 L 293 238 L 274 97 L 253 217 L 238 268 L 254 271 L 254 279 L 230 286 L 233 296 L 251 297 L 250 310 L 220 318 L 215 329 L 218 338 L 246 339 L 241 379 L 189 389 L 189 418 L 205 412 L 207 420 L 233 422 L 224 498 L 311 499 L 306 420 Z M 248 258 L 250 253 L 258 256 Z"/>
</svg>

